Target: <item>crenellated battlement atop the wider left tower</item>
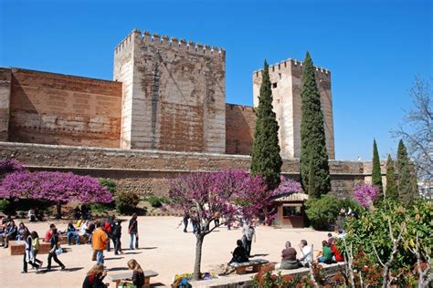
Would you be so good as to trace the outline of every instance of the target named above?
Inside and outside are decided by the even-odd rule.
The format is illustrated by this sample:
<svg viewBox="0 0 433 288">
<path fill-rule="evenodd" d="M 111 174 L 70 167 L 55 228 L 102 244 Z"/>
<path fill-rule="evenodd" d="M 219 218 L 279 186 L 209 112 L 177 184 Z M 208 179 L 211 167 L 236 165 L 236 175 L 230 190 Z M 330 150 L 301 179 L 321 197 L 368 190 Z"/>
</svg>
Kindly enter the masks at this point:
<svg viewBox="0 0 433 288">
<path fill-rule="evenodd" d="M 183 38 L 179 39 L 164 35 L 160 36 L 159 34 L 151 33 L 149 31 L 141 32 L 138 29 L 132 30 L 128 36 L 121 40 L 121 43 L 115 48 L 115 53 L 117 54 L 126 46 L 130 46 L 130 43 L 132 43 L 132 41 L 135 39 L 137 39 L 139 43 L 143 43 L 147 46 L 165 46 L 174 50 L 194 53 L 207 57 L 226 56 L 226 51 L 221 47 L 203 45 L 200 43 L 195 43 L 194 41 L 186 41 Z"/>
</svg>

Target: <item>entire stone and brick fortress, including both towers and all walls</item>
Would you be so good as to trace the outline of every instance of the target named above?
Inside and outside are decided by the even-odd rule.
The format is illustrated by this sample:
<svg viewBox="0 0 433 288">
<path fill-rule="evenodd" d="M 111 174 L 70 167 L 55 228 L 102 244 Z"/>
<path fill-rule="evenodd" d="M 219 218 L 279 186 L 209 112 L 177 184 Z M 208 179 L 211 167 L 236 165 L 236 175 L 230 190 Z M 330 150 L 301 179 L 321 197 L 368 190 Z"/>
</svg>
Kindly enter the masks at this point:
<svg viewBox="0 0 433 288">
<path fill-rule="evenodd" d="M 31 170 L 117 180 L 166 193 L 179 173 L 249 168 L 254 108 L 226 103 L 226 52 L 133 30 L 114 51 L 114 81 L 0 68 L 0 159 Z M 301 62 L 270 67 L 282 172 L 299 179 Z M 260 79 L 253 73 L 255 105 Z M 330 159 L 331 75 L 318 68 Z M 333 193 L 371 180 L 370 162 L 330 161 Z M 385 175 L 385 171 L 384 175 Z"/>
</svg>

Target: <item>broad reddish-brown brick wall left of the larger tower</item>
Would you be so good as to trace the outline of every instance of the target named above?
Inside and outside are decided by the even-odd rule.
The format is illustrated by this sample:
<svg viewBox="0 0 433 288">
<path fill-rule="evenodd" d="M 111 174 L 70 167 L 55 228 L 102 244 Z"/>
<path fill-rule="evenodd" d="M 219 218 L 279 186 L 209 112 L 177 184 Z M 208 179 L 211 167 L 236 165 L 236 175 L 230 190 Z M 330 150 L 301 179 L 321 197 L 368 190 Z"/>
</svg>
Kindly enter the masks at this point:
<svg viewBox="0 0 433 288">
<path fill-rule="evenodd" d="M 119 147 L 121 83 L 17 68 L 11 73 L 9 141 Z"/>
</svg>

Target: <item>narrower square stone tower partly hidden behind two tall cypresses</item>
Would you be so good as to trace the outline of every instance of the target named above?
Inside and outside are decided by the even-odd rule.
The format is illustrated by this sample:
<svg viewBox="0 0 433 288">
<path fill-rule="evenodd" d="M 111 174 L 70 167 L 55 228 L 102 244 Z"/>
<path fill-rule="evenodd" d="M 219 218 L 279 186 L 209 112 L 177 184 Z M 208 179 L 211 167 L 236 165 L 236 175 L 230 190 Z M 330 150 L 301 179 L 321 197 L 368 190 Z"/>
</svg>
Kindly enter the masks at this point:
<svg viewBox="0 0 433 288">
<path fill-rule="evenodd" d="M 279 139 L 283 158 L 299 158 L 301 155 L 301 81 L 302 62 L 288 59 L 269 66 L 272 86 L 272 105 L 280 126 Z M 326 149 L 329 159 L 335 159 L 333 144 L 333 98 L 331 72 L 316 67 L 316 81 L 321 95 Z M 261 70 L 253 72 L 254 107 L 259 106 Z"/>
</svg>

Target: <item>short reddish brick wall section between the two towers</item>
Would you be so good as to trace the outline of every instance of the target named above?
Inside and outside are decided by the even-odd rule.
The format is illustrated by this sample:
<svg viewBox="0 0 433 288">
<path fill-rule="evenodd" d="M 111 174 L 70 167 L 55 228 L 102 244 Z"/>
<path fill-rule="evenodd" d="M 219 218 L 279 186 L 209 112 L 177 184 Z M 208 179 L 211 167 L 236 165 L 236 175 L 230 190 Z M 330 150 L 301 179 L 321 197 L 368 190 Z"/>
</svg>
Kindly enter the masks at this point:
<svg viewBox="0 0 433 288">
<path fill-rule="evenodd" d="M 254 108 L 226 104 L 226 153 L 249 155 L 254 139 Z"/>
</svg>

